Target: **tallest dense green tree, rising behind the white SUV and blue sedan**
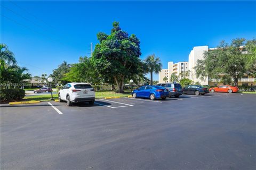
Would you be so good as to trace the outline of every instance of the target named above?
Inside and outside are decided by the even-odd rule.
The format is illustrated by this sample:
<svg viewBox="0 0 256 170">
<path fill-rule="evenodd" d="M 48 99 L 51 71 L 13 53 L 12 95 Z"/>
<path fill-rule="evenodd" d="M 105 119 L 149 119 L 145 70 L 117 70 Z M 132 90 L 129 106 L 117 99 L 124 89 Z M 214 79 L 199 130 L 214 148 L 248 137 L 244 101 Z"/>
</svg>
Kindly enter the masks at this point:
<svg viewBox="0 0 256 170">
<path fill-rule="evenodd" d="M 124 81 L 139 74 L 141 67 L 140 40 L 132 34 L 128 35 L 119 27 L 119 22 L 113 23 L 110 35 L 99 32 L 99 43 L 95 45 L 92 63 L 98 77 L 103 80 L 113 79 L 119 92 L 123 92 Z"/>
</svg>

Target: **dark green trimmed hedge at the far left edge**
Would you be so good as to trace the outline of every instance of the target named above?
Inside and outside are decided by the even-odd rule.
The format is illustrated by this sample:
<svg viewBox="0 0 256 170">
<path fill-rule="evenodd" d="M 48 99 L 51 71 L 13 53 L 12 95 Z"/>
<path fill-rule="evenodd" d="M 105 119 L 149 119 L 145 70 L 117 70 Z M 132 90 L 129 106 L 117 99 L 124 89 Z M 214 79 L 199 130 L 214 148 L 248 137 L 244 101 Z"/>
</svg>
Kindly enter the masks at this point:
<svg viewBox="0 0 256 170">
<path fill-rule="evenodd" d="M 23 89 L 0 89 L 1 101 L 17 101 L 25 97 Z"/>
</svg>

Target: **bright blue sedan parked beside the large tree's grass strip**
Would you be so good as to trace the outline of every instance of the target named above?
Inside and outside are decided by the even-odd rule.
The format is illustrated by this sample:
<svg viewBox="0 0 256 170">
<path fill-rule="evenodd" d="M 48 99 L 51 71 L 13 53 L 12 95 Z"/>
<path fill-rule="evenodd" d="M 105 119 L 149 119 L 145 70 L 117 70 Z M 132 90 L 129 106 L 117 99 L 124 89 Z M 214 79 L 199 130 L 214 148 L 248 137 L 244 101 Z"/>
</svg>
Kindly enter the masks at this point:
<svg viewBox="0 0 256 170">
<path fill-rule="evenodd" d="M 142 86 L 139 89 L 133 90 L 132 97 L 142 97 L 142 98 L 150 98 L 151 100 L 155 99 L 166 99 L 166 97 L 170 96 L 169 90 L 165 89 L 161 86 Z"/>
</svg>

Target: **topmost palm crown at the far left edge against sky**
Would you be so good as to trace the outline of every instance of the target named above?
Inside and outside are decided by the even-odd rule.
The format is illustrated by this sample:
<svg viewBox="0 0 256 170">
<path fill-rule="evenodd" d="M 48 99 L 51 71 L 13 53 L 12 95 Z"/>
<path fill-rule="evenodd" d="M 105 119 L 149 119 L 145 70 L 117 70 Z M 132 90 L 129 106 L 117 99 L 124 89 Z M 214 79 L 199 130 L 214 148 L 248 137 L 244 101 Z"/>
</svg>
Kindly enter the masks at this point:
<svg viewBox="0 0 256 170">
<path fill-rule="evenodd" d="M 7 65 L 16 64 L 17 61 L 15 60 L 14 54 L 9 50 L 9 47 L 5 44 L 0 44 L 0 60 L 4 61 Z"/>
</svg>

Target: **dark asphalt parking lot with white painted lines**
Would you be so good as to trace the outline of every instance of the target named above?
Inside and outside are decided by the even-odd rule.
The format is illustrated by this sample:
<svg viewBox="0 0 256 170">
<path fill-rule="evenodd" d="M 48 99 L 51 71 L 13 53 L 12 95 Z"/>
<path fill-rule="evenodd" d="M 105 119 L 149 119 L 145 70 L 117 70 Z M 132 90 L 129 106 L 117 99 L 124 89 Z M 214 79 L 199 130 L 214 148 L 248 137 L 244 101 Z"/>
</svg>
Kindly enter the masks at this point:
<svg viewBox="0 0 256 170">
<path fill-rule="evenodd" d="M 255 169 L 256 95 L 1 105 L 1 169 Z"/>
</svg>

